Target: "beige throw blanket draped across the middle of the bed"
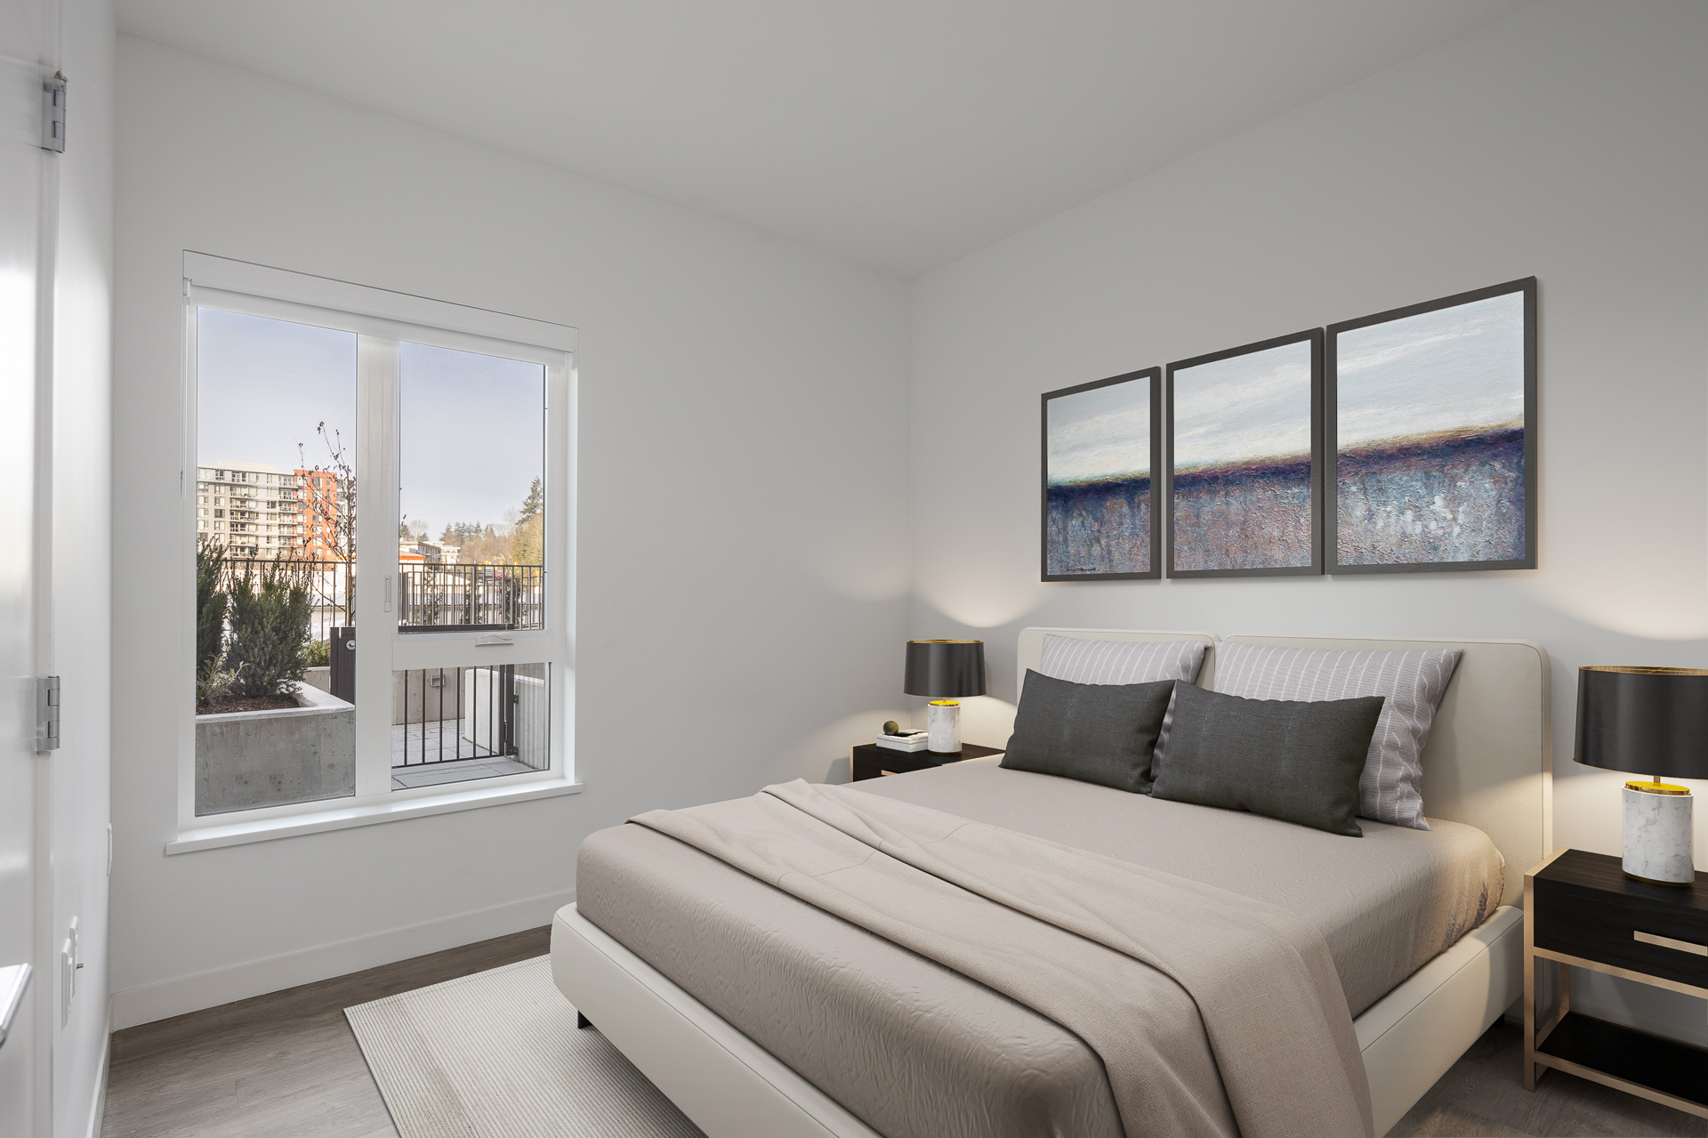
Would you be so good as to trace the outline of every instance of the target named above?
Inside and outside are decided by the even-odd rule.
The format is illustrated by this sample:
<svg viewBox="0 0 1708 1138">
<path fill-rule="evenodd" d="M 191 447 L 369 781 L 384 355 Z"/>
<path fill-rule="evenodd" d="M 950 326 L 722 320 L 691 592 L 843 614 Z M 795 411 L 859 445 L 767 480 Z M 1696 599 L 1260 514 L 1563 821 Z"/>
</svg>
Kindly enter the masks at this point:
<svg viewBox="0 0 1708 1138">
<path fill-rule="evenodd" d="M 634 822 L 1068 1029 L 1102 1058 L 1127 1138 L 1372 1131 L 1334 960 L 1283 909 L 799 781 Z"/>
</svg>

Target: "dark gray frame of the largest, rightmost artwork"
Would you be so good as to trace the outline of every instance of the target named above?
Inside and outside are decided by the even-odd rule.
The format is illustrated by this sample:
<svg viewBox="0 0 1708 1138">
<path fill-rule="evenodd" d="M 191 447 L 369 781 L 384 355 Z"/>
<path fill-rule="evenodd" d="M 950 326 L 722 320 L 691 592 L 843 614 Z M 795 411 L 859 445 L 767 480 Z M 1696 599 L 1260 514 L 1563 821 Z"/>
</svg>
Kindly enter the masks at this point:
<svg viewBox="0 0 1708 1138">
<path fill-rule="evenodd" d="M 1382 562 L 1382 564 L 1342 564 L 1341 562 L 1341 446 L 1339 446 L 1339 338 L 1360 328 L 1421 316 L 1476 301 L 1498 296 L 1522 294 L 1524 297 L 1524 446 L 1522 446 L 1522 487 L 1524 487 L 1524 557 L 1489 559 L 1489 560 L 1436 560 L 1436 562 Z M 1324 381 L 1324 473 L 1329 490 L 1324 494 L 1324 542 L 1329 557 L 1329 572 L 1481 572 L 1486 569 L 1535 569 L 1535 487 L 1537 487 L 1537 279 L 1522 277 L 1486 289 L 1455 292 L 1421 304 L 1342 320 L 1329 325 L 1327 361 Z"/>
</svg>

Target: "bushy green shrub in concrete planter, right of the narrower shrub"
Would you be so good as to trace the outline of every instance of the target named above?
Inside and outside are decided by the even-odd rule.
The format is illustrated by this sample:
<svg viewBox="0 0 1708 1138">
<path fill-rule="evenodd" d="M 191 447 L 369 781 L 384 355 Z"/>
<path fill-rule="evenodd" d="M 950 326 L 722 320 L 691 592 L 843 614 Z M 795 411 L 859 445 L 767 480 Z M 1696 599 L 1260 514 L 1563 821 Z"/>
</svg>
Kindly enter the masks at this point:
<svg viewBox="0 0 1708 1138">
<path fill-rule="evenodd" d="M 225 668 L 237 673 L 232 695 L 290 695 L 307 670 L 307 569 L 289 560 L 253 566 L 232 581 Z"/>
</svg>

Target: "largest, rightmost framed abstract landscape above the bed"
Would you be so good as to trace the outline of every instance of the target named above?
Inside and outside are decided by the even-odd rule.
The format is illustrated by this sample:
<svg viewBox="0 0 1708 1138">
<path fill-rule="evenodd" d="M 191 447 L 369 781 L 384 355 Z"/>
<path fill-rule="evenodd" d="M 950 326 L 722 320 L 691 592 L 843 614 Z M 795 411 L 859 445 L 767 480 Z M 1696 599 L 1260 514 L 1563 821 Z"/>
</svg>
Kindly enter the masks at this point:
<svg viewBox="0 0 1708 1138">
<path fill-rule="evenodd" d="M 1329 326 L 1331 572 L 1535 569 L 1535 277 Z"/>
</svg>

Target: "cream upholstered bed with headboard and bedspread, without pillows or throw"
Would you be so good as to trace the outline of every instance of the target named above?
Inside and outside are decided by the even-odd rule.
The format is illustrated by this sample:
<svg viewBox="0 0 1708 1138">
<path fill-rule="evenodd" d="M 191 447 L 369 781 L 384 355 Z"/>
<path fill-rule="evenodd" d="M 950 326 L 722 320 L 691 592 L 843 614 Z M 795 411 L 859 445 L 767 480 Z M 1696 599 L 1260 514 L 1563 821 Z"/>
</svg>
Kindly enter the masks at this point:
<svg viewBox="0 0 1708 1138">
<path fill-rule="evenodd" d="M 1218 642 L 1209 634 L 1027 629 L 1018 642 L 1021 675 L 1038 665 L 1047 634 Z M 1380 1135 L 1522 994 L 1513 902 L 1524 868 L 1549 848 L 1547 656 L 1517 641 L 1237 636 L 1221 642 L 1459 648 L 1464 656 L 1424 750 L 1426 813 L 1440 822 L 1431 836 L 1370 824 L 1366 841 L 1351 844 L 1254 815 L 999 771 L 994 760 L 861 789 L 992 825 L 1032 827 L 1038 837 L 1149 861 L 1300 912 L 1334 952 Z M 1214 685 L 1213 651 L 1197 683 Z M 941 967 L 893 945 L 874 950 L 871 933 L 762 882 L 738 880 L 740 871 L 642 827 L 601 834 L 584 848 L 588 880 L 577 906 L 553 921 L 553 977 L 707 1135 L 929 1133 L 929 1123 L 915 1124 L 910 1112 L 927 1111 L 933 1095 L 984 1095 L 979 1102 L 1004 1111 L 1016 1071 L 997 1061 L 1013 1054 L 1025 1058 L 1020 1075 L 1044 1071 L 1059 1090 L 1054 1126 L 1119 1133 L 1119 1123 L 1110 1129 L 1095 1056 L 1086 1061 L 1071 1034 L 1030 1008 L 965 977 L 945 979 Z M 1348 859 L 1353 846 L 1356 856 Z M 1496 895 L 1469 897 L 1477 880 L 1498 882 Z M 859 960 L 859 969 L 847 960 Z M 847 972 L 866 969 L 874 976 L 849 983 Z M 888 1005 L 904 1006 L 902 1027 L 886 1020 Z"/>
</svg>

